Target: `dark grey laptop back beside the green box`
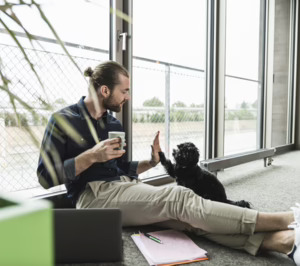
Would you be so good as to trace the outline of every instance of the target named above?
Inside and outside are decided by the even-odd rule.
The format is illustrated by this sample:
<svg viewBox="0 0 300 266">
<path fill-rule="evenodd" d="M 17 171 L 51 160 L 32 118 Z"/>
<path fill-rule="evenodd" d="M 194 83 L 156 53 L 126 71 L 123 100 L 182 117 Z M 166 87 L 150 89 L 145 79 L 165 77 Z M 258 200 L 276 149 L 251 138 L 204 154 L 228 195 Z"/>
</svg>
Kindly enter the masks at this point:
<svg viewBox="0 0 300 266">
<path fill-rule="evenodd" d="M 119 209 L 54 209 L 56 263 L 121 261 Z"/>
</svg>

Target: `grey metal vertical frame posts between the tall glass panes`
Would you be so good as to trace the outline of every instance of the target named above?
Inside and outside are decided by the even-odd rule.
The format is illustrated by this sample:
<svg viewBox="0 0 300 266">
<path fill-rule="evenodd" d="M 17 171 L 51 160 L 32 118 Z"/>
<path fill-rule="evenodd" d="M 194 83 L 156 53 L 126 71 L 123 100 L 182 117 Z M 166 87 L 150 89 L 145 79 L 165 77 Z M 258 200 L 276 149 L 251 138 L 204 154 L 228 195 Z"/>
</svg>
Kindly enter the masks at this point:
<svg viewBox="0 0 300 266">
<path fill-rule="evenodd" d="M 272 0 L 261 0 L 261 16 L 263 25 L 263 36 L 261 38 L 261 94 L 259 98 L 260 116 L 258 119 L 259 130 L 258 148 L 271 147 L 271 84 L 273 81 L 273 73 L 269 67 L 273 62 L 272 57 L 272 21 L 271 5 Z M 275 0 L 274 0 L 275 1 Z M 109 44 L 109 58 L 124 65 L 130 75 L 132 75 L 132 23 L 123 20 L 117 15 L 116 11 L 132 17 L 132 0 L 110 0 L 110 44 Z M 224 97 L 225 97 L 225 20 L 226 20 L 226 0 L 206 0 L 207 7 L 207 25 L 206 25 L 206 95 L 205 95 L 205 159 L 222 158 L 224 157 Z M 299 2 L 298 0 L 291 0 L 291 35 L 290 35 L 290 73 L 289 73 L 289 108 L 287 126 L 287 145 L 275 147 L 280 154 L 296 148 L 299 144 L 299 122 L 296 117 L 296 111 L 299 111 L 300 101 L 297 95 L 297 57 L 298 57 L 298 16 L 299 16 Z M 122 50 L 122 37 L 120 33 L 126 32 L 126 50 Z M 298 71 L 299 72 L 299 71 Z M 132 80 L 132 76 L 130 76 Z M 299 90 L 299 89 L 298 89 Z M 132 97 L 132 90 L 130 96 Z M 299 112 L 298 112 L 299 113 Z M 114 114 L 123 124 L 126 132 L 127 154 L 126 159 L 132 159 L 132 101 L 128 101 L 122 112 Z M 297 120 L 296 120 L 297 118 Z M 253 151 L 254 152 L 254 151 Z M 251 152 L 250 152 L 251 153 Z M 235 154 L 236 158 L 240 160 L 243 154 Z M 243 162 L 247 162 L 245 159 Z M 229 167 L 224 160 L 224 168 Z M 167 175 L 153 177 L 145 180 L 147 183 L 153 185 L 162 185 L 172 182 Z M 60 189 L 60 191 L 65 191 Z M 45 194 L 53 192 L 47 191 Z"/>
</svg>

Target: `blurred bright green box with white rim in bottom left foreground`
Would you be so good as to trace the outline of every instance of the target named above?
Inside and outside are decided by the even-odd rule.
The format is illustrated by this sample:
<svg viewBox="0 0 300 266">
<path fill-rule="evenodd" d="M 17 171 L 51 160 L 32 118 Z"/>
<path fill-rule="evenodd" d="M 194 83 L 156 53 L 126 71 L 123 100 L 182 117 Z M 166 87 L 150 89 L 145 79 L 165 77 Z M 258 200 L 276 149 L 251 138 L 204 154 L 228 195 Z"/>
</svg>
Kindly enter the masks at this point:
<svg viewBox="0 0 300 266">
<path fill-rule="evenodd" d="M 0 265 L 54 265 L 52 216 L 48 201 L 0 193 Z"/>
</svg>

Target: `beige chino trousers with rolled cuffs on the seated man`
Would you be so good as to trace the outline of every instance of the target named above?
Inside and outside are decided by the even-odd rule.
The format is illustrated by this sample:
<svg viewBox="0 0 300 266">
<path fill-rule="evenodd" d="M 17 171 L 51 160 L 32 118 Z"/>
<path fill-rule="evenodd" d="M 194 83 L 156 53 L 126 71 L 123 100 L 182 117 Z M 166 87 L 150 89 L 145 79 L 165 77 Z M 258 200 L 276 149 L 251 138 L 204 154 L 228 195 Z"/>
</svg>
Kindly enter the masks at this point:
<svg viewBox="0 0 300 266">
<path fill-rule="evenodd" d="M 119 208 L 123 226 L 156 224 L 186 230 L 256 255 L 263 233 L 254 233 L 258 212 L 210 201 L 182 186 L 156 187 L 131 181 L 87 184 L 76 208 Z"/>
</svg>

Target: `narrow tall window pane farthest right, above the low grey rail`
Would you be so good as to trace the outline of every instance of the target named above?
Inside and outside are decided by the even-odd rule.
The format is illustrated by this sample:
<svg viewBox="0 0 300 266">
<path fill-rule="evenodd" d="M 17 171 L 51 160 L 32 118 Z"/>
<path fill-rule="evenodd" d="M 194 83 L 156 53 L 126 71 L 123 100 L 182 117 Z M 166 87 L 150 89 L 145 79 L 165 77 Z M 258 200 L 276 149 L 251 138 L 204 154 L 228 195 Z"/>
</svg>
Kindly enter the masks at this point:
<svg viewBox="0 0 300 266">
<path fill-rule="evenodd" d="M 228 155 L 258 145 L 260 0 L 226 3 L 224 154 Z"/>
</svg>

